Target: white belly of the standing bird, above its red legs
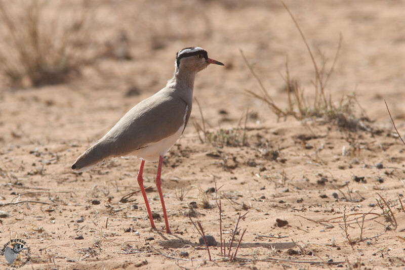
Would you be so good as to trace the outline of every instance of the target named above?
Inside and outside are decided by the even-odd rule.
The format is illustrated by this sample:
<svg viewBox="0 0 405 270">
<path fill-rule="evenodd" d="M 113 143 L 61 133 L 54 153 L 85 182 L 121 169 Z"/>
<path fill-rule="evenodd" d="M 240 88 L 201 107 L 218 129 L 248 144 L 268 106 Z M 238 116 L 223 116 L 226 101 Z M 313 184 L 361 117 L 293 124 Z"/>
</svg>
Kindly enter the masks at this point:
<svg viewBox="0 0 405 270">
<path fill-rule="evenodd" d="M 179 130 L 177 130 L 176 133 L 174 133 L 170 137 L 138 149 L 133 152 L 133 155 L 146 161 L 159 160 L 159 156 L 164 156 L 169 151 L 169 149 L 177 142 L 177 140 L 179 140 L 181 134 L 183 133 L 183 129 L 184 124 L 180 126 Z"/>
</svg>

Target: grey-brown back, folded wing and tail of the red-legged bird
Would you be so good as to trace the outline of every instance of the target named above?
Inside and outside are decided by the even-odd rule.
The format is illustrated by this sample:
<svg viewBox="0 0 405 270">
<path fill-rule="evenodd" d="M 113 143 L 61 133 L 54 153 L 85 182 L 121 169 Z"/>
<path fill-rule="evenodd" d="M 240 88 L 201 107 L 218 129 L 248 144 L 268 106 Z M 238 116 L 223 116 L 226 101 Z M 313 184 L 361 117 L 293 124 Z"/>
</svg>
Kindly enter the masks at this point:
<svg viewBox="0 0 405 270">
<path fill-rule="evenodd" d="M 83 170 L 107 157 L 131 154 L 174 134 L 183 123 L 187 124 L 191 113 L 190 98 L 183 99 L 180 94 L 165 87 L 135 105 L 103 138 L 77 158 L 72 169 Z M 192 97 L 192 89 L 190 94 Z"/>
</svg>

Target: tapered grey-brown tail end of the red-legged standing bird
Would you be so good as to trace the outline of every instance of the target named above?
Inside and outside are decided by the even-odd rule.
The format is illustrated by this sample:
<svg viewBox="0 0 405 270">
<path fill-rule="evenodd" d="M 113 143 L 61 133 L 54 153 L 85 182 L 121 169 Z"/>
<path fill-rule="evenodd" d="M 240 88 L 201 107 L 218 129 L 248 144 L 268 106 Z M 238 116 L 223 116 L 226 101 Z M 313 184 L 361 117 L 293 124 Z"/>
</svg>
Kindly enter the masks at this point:
<svg viewBox="0 0 405 270">
<path fill-rule="evenodd" d="M 72 165 L 72 170 L 78 172 L 89 170 L 109 156 L 111 156 L 109 144 L 100 140 L 76 159 Z"/>
</svg>

